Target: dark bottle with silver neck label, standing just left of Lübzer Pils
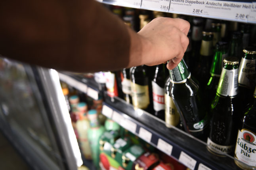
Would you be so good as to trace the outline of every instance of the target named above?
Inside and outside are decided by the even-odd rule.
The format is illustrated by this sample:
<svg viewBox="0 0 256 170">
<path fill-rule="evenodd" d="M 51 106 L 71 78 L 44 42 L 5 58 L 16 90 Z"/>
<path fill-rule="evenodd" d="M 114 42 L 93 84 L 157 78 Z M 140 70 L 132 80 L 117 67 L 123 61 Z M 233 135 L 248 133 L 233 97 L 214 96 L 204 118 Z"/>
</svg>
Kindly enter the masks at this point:
<svg viewBox="0 0 256 170">
<path fill-rule="evenodd" d="M 238 98 L 238 58 L 227 57 L 211 104 L 207 149 L 216 155 L 233 154 L 240 114 Z"/>
</svg>

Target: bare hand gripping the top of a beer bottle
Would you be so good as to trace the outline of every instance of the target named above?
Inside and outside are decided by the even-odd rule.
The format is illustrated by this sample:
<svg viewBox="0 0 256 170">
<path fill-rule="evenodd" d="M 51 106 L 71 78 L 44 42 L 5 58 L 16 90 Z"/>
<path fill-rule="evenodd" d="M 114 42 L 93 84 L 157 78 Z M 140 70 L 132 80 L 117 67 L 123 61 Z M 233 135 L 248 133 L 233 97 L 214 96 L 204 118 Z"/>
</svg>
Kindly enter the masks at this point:
<svg viewBox="0 0 256 170">
<path fill-rule="evenodd" d="M 169 61 L 167 68 L 174 69 L 189 44 L 189 27 L 189 22 L 183 19 L 153 19 L 138 32 L 143 43 L 142 62 L 151 66 Z"/>
</svg>

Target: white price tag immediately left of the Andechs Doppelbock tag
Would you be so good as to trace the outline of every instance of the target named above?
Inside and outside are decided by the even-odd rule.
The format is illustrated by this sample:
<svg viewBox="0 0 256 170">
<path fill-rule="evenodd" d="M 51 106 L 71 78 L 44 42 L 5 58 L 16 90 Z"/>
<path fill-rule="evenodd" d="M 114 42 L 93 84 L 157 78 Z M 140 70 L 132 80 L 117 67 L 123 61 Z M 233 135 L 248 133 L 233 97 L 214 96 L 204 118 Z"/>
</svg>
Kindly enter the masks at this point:
<svg viewBox="0 0 256 170">
<path fill-rule="evenodd" d="M 142 0 L 141 7 L 143 7 L 143 9 L 145 8 L 168 12 L 170 0 Z"/>
</svg>

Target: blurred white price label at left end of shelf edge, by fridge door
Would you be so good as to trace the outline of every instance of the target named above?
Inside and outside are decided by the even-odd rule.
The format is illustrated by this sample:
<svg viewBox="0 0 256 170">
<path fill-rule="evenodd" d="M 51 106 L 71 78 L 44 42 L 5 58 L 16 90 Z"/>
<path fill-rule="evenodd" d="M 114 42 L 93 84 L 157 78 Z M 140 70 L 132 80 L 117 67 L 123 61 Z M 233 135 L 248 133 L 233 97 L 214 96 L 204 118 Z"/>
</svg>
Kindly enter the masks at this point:
<svg viewBox="0 0 256 170">
<path fill-rule="evenodd" d="M 77 90 L 80 90 L 81 92 L 87 93 L 88 86 L 86 84 L 79 82 L 79 81 L 75 80 L 74 78 L 71 78 L 62 73 L 58 73 L 58 74 L 59 74 L 59 79 L 61 81 L 66 82 L 67 84 L 73 86 L 74 88 L 76 88 Z"/>
</svg>

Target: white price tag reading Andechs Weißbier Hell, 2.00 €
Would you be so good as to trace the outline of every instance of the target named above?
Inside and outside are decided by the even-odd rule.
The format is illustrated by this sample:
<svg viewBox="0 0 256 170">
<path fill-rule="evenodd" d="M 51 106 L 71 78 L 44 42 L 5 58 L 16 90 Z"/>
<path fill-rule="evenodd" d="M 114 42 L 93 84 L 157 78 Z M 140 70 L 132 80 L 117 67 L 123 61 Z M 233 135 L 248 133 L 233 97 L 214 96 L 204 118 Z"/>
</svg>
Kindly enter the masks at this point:
<svg viewBox="0 0 256 170">
<path fill-rule="evenodd" d="M 251 8 L 252 3 L 250 2 L 208 0 L 205 3 L 203 14 L 206 16 L 218 17 L 220 19 L 247 22 L 250 17 Z"/>
</svg>

